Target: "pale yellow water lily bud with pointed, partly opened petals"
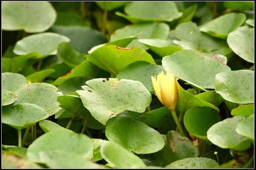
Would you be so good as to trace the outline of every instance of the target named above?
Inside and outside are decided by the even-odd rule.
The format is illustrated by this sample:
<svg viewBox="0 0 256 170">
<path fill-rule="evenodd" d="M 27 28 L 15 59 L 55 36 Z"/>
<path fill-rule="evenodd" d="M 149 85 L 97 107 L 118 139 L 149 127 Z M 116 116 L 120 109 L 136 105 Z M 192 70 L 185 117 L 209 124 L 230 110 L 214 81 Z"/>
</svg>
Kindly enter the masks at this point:
<svg viewBox="0 0 256 170">
<path fill-rule="evenodd" d="M 175 77 L 172 73 L 168 72 L 164 75 L 163 71 L 156 76 L 151 76 L 154 91 L 157 98 L 163 105 L 165 105 L 170 110 L 175 109 L 178 91 L 175 81 Z"/>
</svg>

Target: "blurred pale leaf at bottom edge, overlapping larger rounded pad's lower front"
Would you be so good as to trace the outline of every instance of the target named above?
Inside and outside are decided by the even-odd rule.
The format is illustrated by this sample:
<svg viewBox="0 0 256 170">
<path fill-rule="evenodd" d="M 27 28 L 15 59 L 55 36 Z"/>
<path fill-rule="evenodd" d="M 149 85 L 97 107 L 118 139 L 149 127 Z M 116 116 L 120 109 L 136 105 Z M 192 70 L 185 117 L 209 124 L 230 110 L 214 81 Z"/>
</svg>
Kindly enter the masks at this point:
<svg viewBox="0 0 256 170">
<path fill-rule="evenodd" d="M 49 168 L 105 168 L 103 165 L 86 160 L 83 156 L 63 150 L 48 150 L 39 153 L 40 159 Z"/>
</svg>

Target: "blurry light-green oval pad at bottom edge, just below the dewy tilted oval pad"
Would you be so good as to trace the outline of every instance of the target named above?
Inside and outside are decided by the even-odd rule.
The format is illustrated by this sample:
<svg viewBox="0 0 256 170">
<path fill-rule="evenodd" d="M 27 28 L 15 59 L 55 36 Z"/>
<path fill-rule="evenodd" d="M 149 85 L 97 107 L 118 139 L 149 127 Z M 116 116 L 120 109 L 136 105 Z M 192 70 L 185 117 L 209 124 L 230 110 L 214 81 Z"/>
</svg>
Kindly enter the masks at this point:
<svg viewBox="0 0 256 170">
<path fill-rule="evenodd" d="M 143 168 L 146 165 L 143 161 L 133 153 L 119 144 L 113 142 L 105 142 L 100 147 L 102 157 L 108 162 L 112 168 Z"/>
</svg>

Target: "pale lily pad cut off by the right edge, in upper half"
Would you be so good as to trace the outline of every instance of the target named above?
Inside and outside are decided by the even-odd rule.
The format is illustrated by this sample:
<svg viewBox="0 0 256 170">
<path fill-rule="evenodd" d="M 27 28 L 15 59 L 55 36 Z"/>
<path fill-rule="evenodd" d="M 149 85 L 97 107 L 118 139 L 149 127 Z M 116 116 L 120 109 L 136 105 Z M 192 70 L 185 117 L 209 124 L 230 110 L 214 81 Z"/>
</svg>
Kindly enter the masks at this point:
<svg viewBox="0 0 256 170">
<path fill-rule="evenodd" d="M 254 28 L 231 32 L 227 36 L 227 43 L 239 57 L 254 63 Z"/>
</svg>

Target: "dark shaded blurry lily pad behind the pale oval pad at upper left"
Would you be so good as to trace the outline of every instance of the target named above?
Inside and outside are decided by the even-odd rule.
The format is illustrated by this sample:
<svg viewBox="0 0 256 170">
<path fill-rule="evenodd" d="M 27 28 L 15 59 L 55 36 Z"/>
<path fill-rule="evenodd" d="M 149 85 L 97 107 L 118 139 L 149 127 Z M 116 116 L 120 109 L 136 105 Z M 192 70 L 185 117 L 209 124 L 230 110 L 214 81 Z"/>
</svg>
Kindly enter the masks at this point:
<svg viewBox="0 0 256 170">
<path fill-rule="evenodd" d="M 85 26 L 53 26 L 49 31 L 69 37 L 71 47 L 83 54 L 95 45 L 107 42 L 104 34 Z"/>
</svg>

